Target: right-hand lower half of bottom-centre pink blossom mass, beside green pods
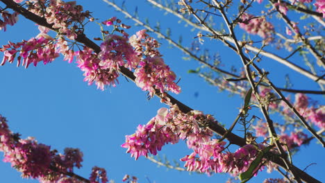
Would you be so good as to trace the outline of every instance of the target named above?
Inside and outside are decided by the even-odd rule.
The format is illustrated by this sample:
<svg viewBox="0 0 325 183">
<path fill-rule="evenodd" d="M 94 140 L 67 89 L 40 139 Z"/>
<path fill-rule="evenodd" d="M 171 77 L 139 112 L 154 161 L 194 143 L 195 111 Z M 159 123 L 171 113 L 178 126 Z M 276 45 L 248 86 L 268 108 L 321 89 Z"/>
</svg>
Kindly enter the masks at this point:
<svg viewBox="0 0 325 183">
<path fill-rule="evenodd" d="M 233 176 L 247 171 L 249 164 L 258 154 L 258 149 L 265 148 L 262 144 L 253 146 L 247 144 L 235 153 L 223 152 L 226 142 L 218 142 L 211 139 L 201 143 L 198 148 L 193 148 L 194 152 L 181 159 L 185 162 L 188 171 L 199 171 L 201 173 L 230 173 Z M 258 171 L 258 170 L 256 170 Z"/>
</svg>

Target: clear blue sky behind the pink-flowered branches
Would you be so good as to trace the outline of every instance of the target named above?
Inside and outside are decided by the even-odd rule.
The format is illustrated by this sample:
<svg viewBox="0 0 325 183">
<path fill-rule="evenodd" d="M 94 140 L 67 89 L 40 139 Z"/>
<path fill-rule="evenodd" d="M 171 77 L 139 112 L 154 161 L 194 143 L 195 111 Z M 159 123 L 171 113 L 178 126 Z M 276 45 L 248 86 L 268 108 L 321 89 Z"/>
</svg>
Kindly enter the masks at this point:
<svg viewBox="0 0 325 183">
<path fill-rule="evenodd" d="M 94 17 L 100 21 L 117 16 L 124 23 L 133 25 L 133 22 L 124 19 L 124 15 L 115 12 L 103 1 L 77 1 L 85 10 L 94 12 Z M 128 10 L 139 6 L 140 17 L 149 17 L 155 24 L 161 21 L 163 28 L 171 27 L 172 36 L 178 39 L 183 35 L 185 44 L 190 45 L 192 37 L 197 32 L 177 24 L 177 19 L 172 15 L 164 16 L 162 11 L 153 9 L 144 1 L 126 1 Z M 154 13 L 154 16 L 153 16 Z M 140 30 L 133 27 L 128 32 L 130 35 Z M 24 31 L 22 31 L 24 30 Z M 8 27 L 6 32 L 0 32 L 0 44 L 6 44 L 8 40 L 17 42 L 28 40 L 37 35 L 37 28 L 33 22 L 20 17 L 16 26 Z M 96 24 L 86 30 L 90 37 L 99 36 L 99 27 Z M 153 35 L 155 36 L 155 35 Z M 189 69 L 196 69 L 199 64 L 195 61 L 182 60 L 183 53 L 176 49 L 169 49 L 167 42 L 162 42 L 161 52 L 165 62 L 181 78 L 182 93 L 176 96 L 179 101 L 190 107 L 201 110 L 206 114 L 213 114 L 218 121 L 230 125 L 238 114 L 242 100 L 238 96 L 229 98 L 226 92 L 217 92 L 217 88 L 208 85 L 201 78 L 188 74 Z M 235 53 L 226 49 L 223 44 L 206 40 L 210 49 L 222 55 L 224 63 L 240 64 Z M 285 68 L 279 64 L 268 64 L 269 69 L 276 69 L 274 77 L 278 85 L 284 85 L 283 71 Z M 121 182 L 125 174 L 135 175 L 140 182 L 224 182 L 226 175 L 189 175 L 186 172 L 167 170 L 164 167 L 157 168 L 156 164 L 149 162 L 144 157 L 135 161 L 121 148 L 125 135 L 132 134 L 138 124 L 147 123 L 160 107 L 165 107 L 155 97 L 147 100 L 146 92 L 133 82 L 128 82 L 123 76 L 119 78 L 117 87 L 108 88 L 106 91 L 96 89 L 94 85 L 88 86 L 83 82 L 82 72 L 76 64 L 69 64 L 58 59 L 51 64 L 38 67 L 16 67 L 15 64 L 6 64 L 0 67 L 0 114 L 6 116 L 10 129 L 19 132 L 22 137 L 35 137 L 40 143 L 51 145 L 63 152 L 65 147 L 80 148 L 83 151 L 83 168 L 76 173 L 89 177 L 92 166 L 100 166 L 108 171 L 108 178 Z M 277 76 L 277 77 L 276 77 Z M 299 78 L 299 74 L 292 73 L 293 78 Z M 298 88 L 307 87 L 316 89 L 309 84 L 310 80 L 299 78 L 301 82 L 295 82 Z M 195 96 L 195 94 L 198 96 Z M 324 104 L 324 98 L 317 97 L 319 103 Z M 314 142 L 314 141 L 313 141 Z M 191 153 L 184 143 L 167 145 L 160 155 L 166 155 L 172 162 Z M 2 155 L 0 153 L 0 155 Z M 313 145 L 312 150 L 302 148 L 294 157 L 294 162 L 300 168 L 317 162 L 310 166 L 307 172 L 315 175 L 319 180 L 325 181 L 324 174 L 319 170 L 325 167 L 324 149 L 319 145 Z M 10 168 L 10 164 L 0 163 L 1 182 L 37 182 L 35 180 L 23 180 L 20 173 Z M 254 178 L 252 182 L 262 182 L 263 176 Z M 272 174 L 272 177 L 281 177 Z"/>
</svg>

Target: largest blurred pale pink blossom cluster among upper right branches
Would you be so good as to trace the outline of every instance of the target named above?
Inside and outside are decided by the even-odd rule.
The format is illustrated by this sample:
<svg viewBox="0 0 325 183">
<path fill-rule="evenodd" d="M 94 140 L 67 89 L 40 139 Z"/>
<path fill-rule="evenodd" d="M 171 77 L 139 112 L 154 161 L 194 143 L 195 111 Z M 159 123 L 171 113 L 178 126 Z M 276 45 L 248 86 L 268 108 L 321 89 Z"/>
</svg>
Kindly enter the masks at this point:
<svg viewBox="0 0 325 183">
<path fill-rule="evenodd" d="M 242 23 L 240 28 L 253 35 L 259 35 L 268 41 L 272 40 L 272 33 L 274 33 L 274 26 L 266 21 L 265 17 L 255 17 L 244 13 L 242 15 Z"/>
</svg>

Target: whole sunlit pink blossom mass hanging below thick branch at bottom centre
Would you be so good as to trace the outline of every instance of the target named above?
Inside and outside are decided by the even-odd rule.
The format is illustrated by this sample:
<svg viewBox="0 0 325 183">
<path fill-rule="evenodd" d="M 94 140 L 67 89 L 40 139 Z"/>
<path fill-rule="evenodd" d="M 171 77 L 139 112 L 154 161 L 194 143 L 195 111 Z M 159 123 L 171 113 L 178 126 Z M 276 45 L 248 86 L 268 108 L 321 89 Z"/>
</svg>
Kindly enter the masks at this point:
<svg viewBox="0 0 325 183">
<path fill-rule="evenodd" d="M 169 111 L 161 108 L 147 125 L 139 125 L 135 134 L 127 135 L 122 147 L 128 149 L 126 153 L 131 153 L 131 157 L 138 159 L 140 155 L 147 156 L 148 153 L 156 155 L 157 150 L 161 150 L 165 144 L 183 139 L 194 151 L 181 159 L 188 171 L 232 175 L 246 171 L 258 149 L 264 146 L 248 144 L 235 153 L 224 152 L 226 142 L 213 139 L 213 133 L 206 128 L 211 122 L 217 123 L 212 116 L 199 111 L 183 114 L 177 106 L 172 106 Z"/>
</svg>

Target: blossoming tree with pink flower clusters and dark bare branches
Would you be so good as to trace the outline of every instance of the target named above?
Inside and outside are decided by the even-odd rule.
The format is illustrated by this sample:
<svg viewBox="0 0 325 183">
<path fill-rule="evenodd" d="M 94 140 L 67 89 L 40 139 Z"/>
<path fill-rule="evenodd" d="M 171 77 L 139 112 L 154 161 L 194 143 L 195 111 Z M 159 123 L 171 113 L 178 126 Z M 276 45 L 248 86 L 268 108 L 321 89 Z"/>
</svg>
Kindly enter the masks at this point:
<svg viewBox="0 0 325 183">
<path fill-rule="evenodd" d="M 0 30 L 10 31 L 10 26 L 21 19 L 35 22 L 40 30 L 22 42 L 8 40 L 0 49 L 1 65 L 17 62 L 17 67 L 27 69 L 40 62 L 50 64 L 62 55 L 63 60 L 76 62 L 84 81 L 98 89 L 117 87 L 118 78 L 123 75 L 147 92 L 149 98 L 160 98 L 166 107 L 157 109 L 147 124 L 138 125 L 134 134 L 126 135 L 122 144 L 135 159 L 144 156 L 173 168 L 149 155 L 157 155 L 167 143 L 185 141 L 192 153 L 180 159 L 185 168 L 178 169 L 183 171 L 228 173 L 233 177 L 228 182 L 247 182 L 258 176 L 258 171 L 267 169 L 278 171 L 283 177 L 265 182 L 320 182 L 295 166 L 292 154 L 307 143 L 325 146 L 325 107 L 320 103 L 323 98 L 317 102 L 311 97 L 325 94 L 325 1 L 181 0 L 164 4 L 147 0 L 194 28 L 196 35 L 190 48 L 183 46 L 181 40 L 175 41 L 169 32 L 164 34 L 159 26 L 153 28 L 138 15 L 131 15 L 123 5 L 104 1 L 142 29 L 131 33 L 131 26 L 117 17 L 99 20 L 76 1 L 1 0 Z M 253 7 L 264 9 L 256 12 L 258 8 Z M 280 28 L 274 19 L 281 21 Z M 312 23 L 299 24 L 297 19 Z M 223 22 L 224 26 L 219 28 L 216 22 Z M 97 24 L 101 37 L 88 37 L 85 29 Z M 213 115 L 194 110 L 170 95 L 181 92 L 180 80 L 160 53 L 155 34 L 185 53 L 185 59 L 201 63 L 189 73 L 242 97 L 238 115 L 229 116 L 235 119 L 232 124 L 222 124 Z M 211 53 L 213 50 L 206 49 L 208 40 L 218 40 L 231 49 L 238 56 L 235 65 L 224 67 L 225 63 Z M 281 49 L 283 55 L 274 53 L 274 49 Z M 304 62 L 292 62 L 292 58 Z M 271 79 L 272 71 L 264 69 L 265 60 L 297 71 L 310 79 L 316 89 L 278 87 Z M 275 122 L 274 114 L 282 120 L 278 122 L 276 118 Z M 235 128 L 241 131 L 235 132 Z M 108 182 L 105 168 L 94 166 L 87 178 L 74 172 L 83 162 L 78 148 L 65 148 L 60 153 L 32 137 L 22 139 L 9 129 L 8 121 L 1 115 L 0 137 L 3 161 L 23 177 L 40 182 Z M 137 182 L 137 178 L 126 175 L 123 181 Z"/>
</svg>

